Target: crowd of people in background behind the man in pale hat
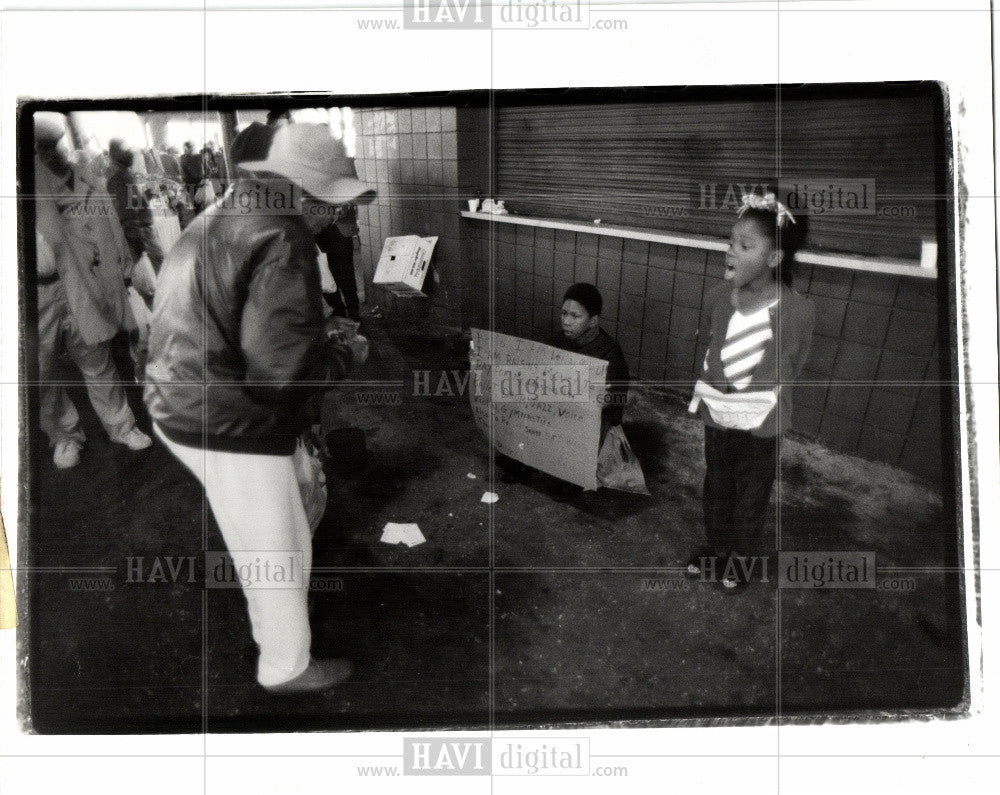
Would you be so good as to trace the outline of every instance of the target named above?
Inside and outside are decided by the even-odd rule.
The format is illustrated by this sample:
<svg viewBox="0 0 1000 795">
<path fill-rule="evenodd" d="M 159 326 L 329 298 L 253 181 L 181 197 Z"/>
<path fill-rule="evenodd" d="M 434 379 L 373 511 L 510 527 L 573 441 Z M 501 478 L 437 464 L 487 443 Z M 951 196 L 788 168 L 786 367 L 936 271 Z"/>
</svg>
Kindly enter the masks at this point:
<svg viewBox="0 0 1000 795">
<path fill-rule="evenodd" d="M 83 374 L 109 437 L 132 450 L 149 447 L 136 427 L 112 342 L 127 337 L 136 380 L 143 379 L 156 276 L 183 231 L 236 181 L 236 164 L 269 144 L 289 123 L 273 113 L 233 142 L 230 158 L 209 139 L 202 146 L 136 147 L 113 137 L 101 148 L 59 113 L 34 115 L 35 282 L 39 308 L 40 425 L 57 468 L 79 463 L 86 438 L 56 376 L 68 355 Z M 328 312 L 359 319 L 354 279 L 356 210 L 341 208 L 316 234 L 332 279 L 324 279 Z M 324 274 L 325 276 L 326 274 Z"/>
</svg>

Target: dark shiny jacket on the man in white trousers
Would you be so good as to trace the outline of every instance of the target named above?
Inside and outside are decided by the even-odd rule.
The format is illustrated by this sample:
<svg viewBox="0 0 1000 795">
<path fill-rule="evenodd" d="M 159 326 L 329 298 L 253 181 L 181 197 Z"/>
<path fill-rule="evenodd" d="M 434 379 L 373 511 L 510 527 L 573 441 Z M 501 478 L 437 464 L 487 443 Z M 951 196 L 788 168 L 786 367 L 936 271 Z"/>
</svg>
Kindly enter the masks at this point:
<svg viewBox="0 0 1000 795">
<path fill-rule="evenodd" d="M 303 407 L 349 369 L 327 339 L 312 232 L 240 202 L 240 180 L 174 244 L 156 282 L 145 401 L 178 444 L 291 455 Z"/>
</svg>

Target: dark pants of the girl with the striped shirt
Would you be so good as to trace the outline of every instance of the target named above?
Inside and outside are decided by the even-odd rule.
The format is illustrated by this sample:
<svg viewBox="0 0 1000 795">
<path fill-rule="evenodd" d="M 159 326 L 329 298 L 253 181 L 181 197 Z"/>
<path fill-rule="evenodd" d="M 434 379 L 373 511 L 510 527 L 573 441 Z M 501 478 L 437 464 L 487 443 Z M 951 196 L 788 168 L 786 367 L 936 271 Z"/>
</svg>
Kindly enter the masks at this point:
<svg viewBox="0 0 1000 795">
<path fill-rule="evenodd" d="M 778 467 L 778 440 L 705 426 L 705 535 L 717 555 L 758 551 Z"/>
</svg>

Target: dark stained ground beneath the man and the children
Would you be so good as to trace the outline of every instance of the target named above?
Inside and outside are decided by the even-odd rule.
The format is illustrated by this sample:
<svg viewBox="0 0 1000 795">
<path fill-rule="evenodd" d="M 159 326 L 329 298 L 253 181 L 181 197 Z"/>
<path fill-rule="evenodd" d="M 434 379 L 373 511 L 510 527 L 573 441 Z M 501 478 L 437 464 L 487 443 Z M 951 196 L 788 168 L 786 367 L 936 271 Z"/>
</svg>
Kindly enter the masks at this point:
<svg viewBox="0 0 1000 795">
<path fill-rule="evenodd" d="M 372 357 L 352 375 L 390 381 L 398 405 L 363 405 L 356 395 L 370 393 L 367 385 L 326 401 L 325 426 L 363 428 L 369 454 L 349 474 L 330 473 L 314 542 L 314 567 L 343 587 L 312 594 L 313 653 L 350 657 L 356 674 L 309 698 L 279 699 L 255 684 L 242 594 L 198 584 L 202 551 L 223 547 L 211 518 L 203 522 L 197 481 L 159 444 L 143 453 L 112 445 L 73 388 L 89 438 L 81 464 L 57 471 L 32 436 L 34 513 L 20 549 L 35 567 L 88 567 L 31 578 L 22 649 L 35 730 L 472 726 L 959 705 L 954 576 L 905 572 L 916 589 L 903 593 L 645 587 L 649 577 L 676 580 L 701 539 L 701 426 L 683 405 L 634 390 L 625 428 L 649 497 L 567 496 L 541 473 L 490 486 L 488 446 L 468 399 L 412 396 L 415 368 L 435 369 L 436 382 L 437 371 L 464 366 L 462 339 L 410 329 L 390 339 L 367 319 Z M 480 502 L 487 490 L 500 495 L 493 506 Z M 902 471 L 813 443 L 784 445 L 784 549 L 874 550 L 880 567 L 940 567 L 959 535 L 943 505 L 939 487 Z M 418 523 L 427 543 L 381 544 L 388 521 Z M 151 565 L 192 555 L 195 583 L 186 569 L 181 582 L 127 581 L 128 556 Z M 114 589 L 72 590 L 81 575 L 109 577 Z"/>
</svg>

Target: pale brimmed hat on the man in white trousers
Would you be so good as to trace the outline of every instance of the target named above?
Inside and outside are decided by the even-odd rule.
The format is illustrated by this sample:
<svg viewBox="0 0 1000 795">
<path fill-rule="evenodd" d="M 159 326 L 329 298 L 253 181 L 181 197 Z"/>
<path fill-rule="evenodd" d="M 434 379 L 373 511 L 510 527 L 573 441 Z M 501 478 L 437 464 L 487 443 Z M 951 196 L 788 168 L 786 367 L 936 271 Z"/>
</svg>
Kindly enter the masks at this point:
<svg viewBox="0 0 1000 795">
<path fill-rule="evenodd" d="M 367 204 L 375 198 L 375 189 L 358 179 L 354 161 L 325 124 L 279 127 L 267 156 L 241 166 L 285 177 L 326 204 Z"/>
</svg>

